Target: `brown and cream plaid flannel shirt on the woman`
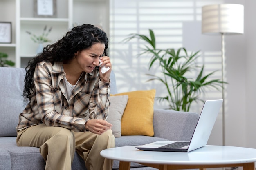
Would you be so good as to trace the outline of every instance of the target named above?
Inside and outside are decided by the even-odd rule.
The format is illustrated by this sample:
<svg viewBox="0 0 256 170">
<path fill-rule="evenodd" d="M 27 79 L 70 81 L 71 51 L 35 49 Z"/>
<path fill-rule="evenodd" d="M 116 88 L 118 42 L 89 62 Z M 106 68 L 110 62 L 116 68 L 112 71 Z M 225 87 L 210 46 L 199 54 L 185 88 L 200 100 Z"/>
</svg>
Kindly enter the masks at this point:
<svg viewBox="0 0 256 170">
<path fill-rule="evenodd" d="M 19 115 L 17 130 L 37 124 L 59 126 L 75 132 L 85 132 L 89 119 L 108 117 L 110 83 L 99 80 L 99 71 L 83 72 L 70 100 L 64 85 L 62 62 L 40 62 L 34 73 L 34 91 L 31 102 Z"/>
</svg>

